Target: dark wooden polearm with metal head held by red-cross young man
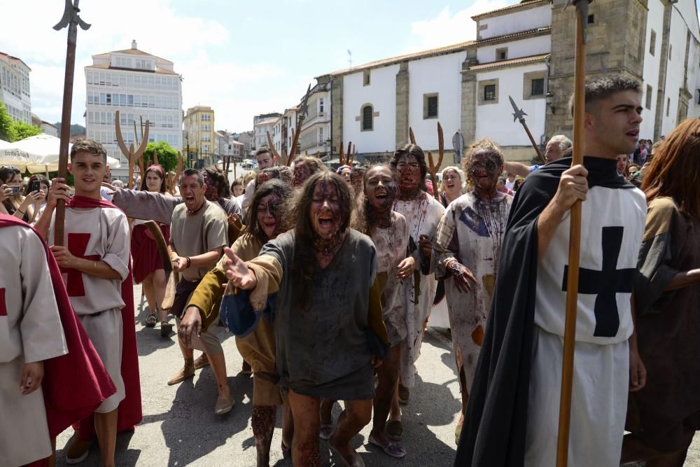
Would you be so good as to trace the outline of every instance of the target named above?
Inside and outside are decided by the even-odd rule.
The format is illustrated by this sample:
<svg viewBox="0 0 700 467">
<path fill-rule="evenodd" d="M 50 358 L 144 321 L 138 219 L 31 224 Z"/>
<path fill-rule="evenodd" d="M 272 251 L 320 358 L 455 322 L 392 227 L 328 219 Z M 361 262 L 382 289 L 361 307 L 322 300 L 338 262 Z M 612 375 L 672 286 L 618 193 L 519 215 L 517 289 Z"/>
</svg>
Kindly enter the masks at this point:
<svg viewBox="0 0 700 467">
<path fill-rule="evenodd" d="M 63 17 L 53 29 L 60 31 L 68 27 L 68 45 L 66 47 L 66 73 L 63 80 L 63 111 L 61 114 L 61 145 L 58 155 L 58 176 L 61 179 L 68 178 L 68 144 L 71 139 L 71 110 L 73 106 L 73 75 L 76 69 L 76 41 L 78 39 L 78 26 L 83 31 L 90 29 L 85 21 L 80 19 L 80 8 L 75 0 L 66 0 L 66 8 Z M 64 224 L 66 222 L 66 204 L 59 200 L 56 206 L 55 237 L 54 244 L 63 246 Z"/>
</svg>

